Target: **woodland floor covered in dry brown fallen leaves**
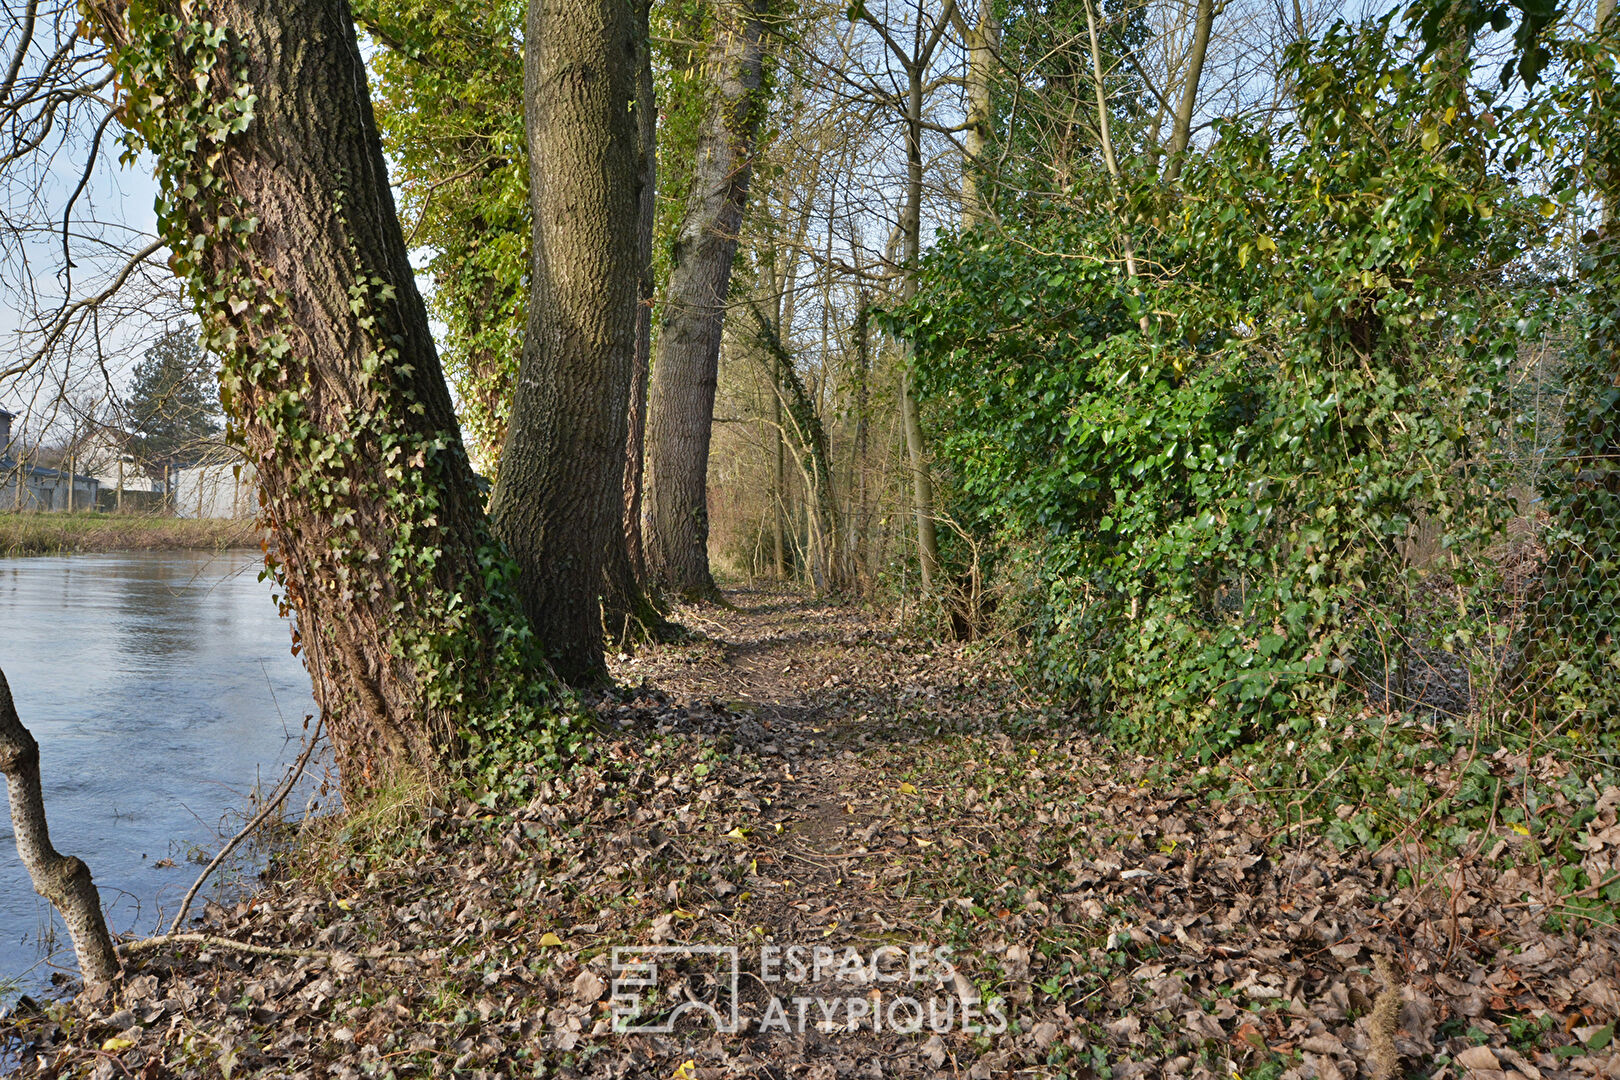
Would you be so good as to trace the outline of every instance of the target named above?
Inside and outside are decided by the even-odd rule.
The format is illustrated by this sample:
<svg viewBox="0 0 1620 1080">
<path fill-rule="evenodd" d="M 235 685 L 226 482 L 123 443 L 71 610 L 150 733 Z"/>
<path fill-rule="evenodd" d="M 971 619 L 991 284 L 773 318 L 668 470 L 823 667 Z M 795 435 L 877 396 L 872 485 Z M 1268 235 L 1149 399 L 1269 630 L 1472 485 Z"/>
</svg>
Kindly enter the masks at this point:
<svg viewBox="0 0 1620 1080">
<path fill-rule="evenodd" d="M 16 1069 L 1620 1077 L 1620 934 L 1547 931 L 1557 900 L 1502 857 L 1528 837 L 1482 837 L 1492 858 L 1340 852 L 1043 716 L 995 649 L 792 594 L 729 599 L 680 612 L 701 638 L 620 657 L 599 763 L 526 808 L 352 826 L 363 844 L 306 840 L 295 871 L 209 908 L 209 934 L 316 955 L 141 954 L 120 997 L 6 1022 Z M 1583 840 L 1607 865 L 1617 808 L 1610 789 Z M 688 1012 L 669 1035 L 614 1031 L 612 949 L 651 942 L 739 946 L 744 1030 Z M 956 973 L 757 978 L 763 946 L 795 944 L 949 947 Z M 716 970 L 688 957 L 659 993 L 713 999 Z M 789 1033 L 760 1030 L 768 994 Z M 812 1004 L 800 1031 L 795 996 L 834 1012 Z M 953 1030 L 842 1009 L 896 996 L 951 1004 Z M 962 1031 L 962 1002 L 991 996 L 1011 1027 Z"/>
</svg>

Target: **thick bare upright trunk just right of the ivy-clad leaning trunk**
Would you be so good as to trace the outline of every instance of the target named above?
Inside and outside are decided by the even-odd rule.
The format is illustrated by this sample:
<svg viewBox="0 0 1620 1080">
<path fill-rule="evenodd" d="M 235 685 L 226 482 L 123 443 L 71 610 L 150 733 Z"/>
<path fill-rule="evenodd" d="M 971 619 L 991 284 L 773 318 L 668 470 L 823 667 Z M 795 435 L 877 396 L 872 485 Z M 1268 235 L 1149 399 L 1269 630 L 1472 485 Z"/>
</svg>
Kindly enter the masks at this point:
<svg viewBox="0 0 1620 1080">
<path fill-rule="evenodd" d="M 606 677 L 601 594 L 624 547 L 640 214 L 637 11 L 530 0 L 523 104 L 535 214 L 528 332 L 491 513 L 523 610 L 570 682 Z"/>
</svg>

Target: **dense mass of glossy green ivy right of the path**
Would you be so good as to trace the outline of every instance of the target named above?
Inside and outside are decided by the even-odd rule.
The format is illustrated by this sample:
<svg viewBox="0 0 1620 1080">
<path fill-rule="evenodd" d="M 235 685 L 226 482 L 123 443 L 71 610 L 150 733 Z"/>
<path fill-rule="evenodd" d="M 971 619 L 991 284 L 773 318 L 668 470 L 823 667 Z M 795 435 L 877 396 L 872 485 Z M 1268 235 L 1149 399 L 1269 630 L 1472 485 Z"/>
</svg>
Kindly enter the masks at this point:
<svg viewBox="0 0 1620 1080">
<path fill-rule="evenodd" d="M 1418 526 L 1473 585 L 1510 508 L 1484 449 L 1544 201 L 1494 164 L 1503 102 L 1416 52 L 1335 28 L 1294 123 L 1221 125 L 1124 219 L 946 240 L 896 314 L 959 517 L 1034 563 L 1032 665 L 1129 742 L 1217 755 L 1359 688 Z"/>
</svg>

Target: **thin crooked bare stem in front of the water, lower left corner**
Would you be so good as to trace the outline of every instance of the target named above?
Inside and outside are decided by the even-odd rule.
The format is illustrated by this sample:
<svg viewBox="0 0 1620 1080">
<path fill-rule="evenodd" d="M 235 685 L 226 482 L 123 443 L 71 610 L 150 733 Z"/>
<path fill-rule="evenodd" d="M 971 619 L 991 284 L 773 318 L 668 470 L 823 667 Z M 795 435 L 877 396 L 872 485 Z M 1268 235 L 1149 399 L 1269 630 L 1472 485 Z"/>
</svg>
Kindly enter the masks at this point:
<svg viewBox="0 0 1620 1080">
<path fill-rule="evenodd" d="M 91 879 L 91 868 L 50 844 L 39 785 L 39 743 L 16 716 L 5 672 L 0 672 L 0 774 L 5 774 L 11 800 L 16 853 L 34 881 L 34 892 L 50 900 L 68 925 L 86 984 L 112 983 L 122 967 L 102 916 L 100 894 Z"/>
</svg>

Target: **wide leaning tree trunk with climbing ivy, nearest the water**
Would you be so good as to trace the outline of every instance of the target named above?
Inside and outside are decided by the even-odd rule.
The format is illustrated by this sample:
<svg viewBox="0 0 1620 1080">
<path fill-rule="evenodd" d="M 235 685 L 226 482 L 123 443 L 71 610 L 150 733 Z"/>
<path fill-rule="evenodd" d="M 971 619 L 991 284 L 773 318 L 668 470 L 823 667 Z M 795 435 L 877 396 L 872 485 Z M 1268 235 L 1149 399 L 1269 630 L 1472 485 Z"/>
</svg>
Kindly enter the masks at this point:
<svg viewBox="0 0 1620 1080">
<path fill-rule="evenodd" d="M 92 0 L 222 358 L 295 648 L 358 797 L 551 745 L 407 257 L 345 0 Z M 551 735 L 556 729 L 551 729 Z"/>
</svg>

